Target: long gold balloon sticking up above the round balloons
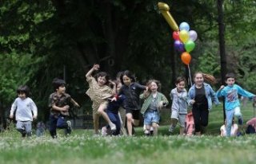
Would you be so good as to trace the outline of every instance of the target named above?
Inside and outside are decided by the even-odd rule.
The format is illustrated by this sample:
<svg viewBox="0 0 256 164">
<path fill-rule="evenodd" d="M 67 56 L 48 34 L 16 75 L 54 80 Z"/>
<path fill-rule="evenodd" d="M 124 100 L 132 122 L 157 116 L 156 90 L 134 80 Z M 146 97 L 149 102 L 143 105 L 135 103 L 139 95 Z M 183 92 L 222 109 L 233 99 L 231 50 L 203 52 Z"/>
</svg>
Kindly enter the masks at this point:
<svg viewBox="0 0 256 164">
<path fill-rule="evenodd" d="M 169 12 L 170 7 L 166 3 L 158 2 L 158 9 L 160 10 L 162 16 L 166 19 L 167 23 L 170 25 L 170 28 L 174 31 L 178 31 L 178 25 Z"/>
</svg>

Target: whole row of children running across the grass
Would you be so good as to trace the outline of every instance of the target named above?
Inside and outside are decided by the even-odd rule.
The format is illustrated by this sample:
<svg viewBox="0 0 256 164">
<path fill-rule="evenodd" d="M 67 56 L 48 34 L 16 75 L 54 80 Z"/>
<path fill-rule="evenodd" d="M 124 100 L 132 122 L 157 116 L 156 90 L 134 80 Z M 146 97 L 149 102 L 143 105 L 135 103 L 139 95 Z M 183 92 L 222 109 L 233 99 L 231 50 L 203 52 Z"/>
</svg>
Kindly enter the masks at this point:
<svg viewBox="0 0 256 164">
<path fill-rule="evenodd" d="M 98 72 L 100 66 L 94 64 L 86 73 L 86 81 L 89 89 L 86 95 L 92 100 L 94 135 L 99 134 L 99 116 L 106 120 L 107 125 L 102 127 L 102 135 L 134 135 L 134 126 L 139 124 L 139 116 L 143 115 L 146 134 L 153 130 L 153 135 L 158 135 L 160 112 L 162 107 L 168 105 L 168 100 L 161 92 L 161 84 L 158 80 L 149 80 L 144 86 L 138 84 L 132 72 L 126 70 L 118 73 L 116 80 L 110 80 L 106 72 Z M 254 98 L 254 94 L 245 91 L 234 84 L 233 73 L 226 74 L 226 86 L 221 86 L 218 92 L 214 92 L 210 84 L 214 83 L 214 76 L 197 72 L 194 74 L 194 84 L 189 92 L 186 92 L 186 79 L 178 77 L 176 88 L 170 92 L 171 124 L 169 131 L 172 133 L 179 123 L 180 135 L 185 133 L 185 119 L 188 107 L 192 107 L 194 118 L 194 135 L 202 135 L 208 125 L 209 111 L 212 102 L 219 104 L 218 97 L 225 97 L 226 110 L 226 136 L 230 136 L 233 117 L 238 118 L 238 124 L 242 125 L 243 119 L 240 111 L 238 94 L 244 97 Z M 66 82 L 54 79 L 54 93 L 50 95 L 50 135 L 57 138 L 57 128 L 65 129 L 66 135 L 72 131 L 71 122 L 67 120 L 70 103 L 79 107 L 78 103 L 66 93 Z M 16 128 L 22 137 L 31 135 L 31 122 L 38 116 L 38 110 L 33 100 L 30 99 L 29 88 L 20 86 L 17 90 L 18 98 L 14 100 L 10 110 L 10 119 L 17 121 Z M 142 107 L 140 106 L 142 103 Z M 31 112 L 32 111 L 32 112 Z"/>
</svg>

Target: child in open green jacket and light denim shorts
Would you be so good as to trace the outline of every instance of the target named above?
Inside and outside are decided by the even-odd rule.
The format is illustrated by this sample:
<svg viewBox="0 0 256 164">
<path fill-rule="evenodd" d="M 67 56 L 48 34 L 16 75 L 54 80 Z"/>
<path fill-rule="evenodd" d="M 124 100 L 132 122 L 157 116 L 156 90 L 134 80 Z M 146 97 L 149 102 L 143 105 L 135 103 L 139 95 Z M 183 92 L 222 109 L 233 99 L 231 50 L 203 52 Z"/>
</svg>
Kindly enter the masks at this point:
<svg viewBox="0 0 256 164">
<path fill-rule="evenodd" d="M 158 92 L 160 89 L 160 82 L 158 80 L 149 80 L 146 86 L 149 88 L 145 91 L 140 98 L 144 100 L 142 104 L 141 113 L 144 117 L 144 124 L 146 130 L 150 131 L 150 127 L 153 127 L 154 136 L 158 135 L 158 124 L 160 120 L 160 111 L 162 107 L 166 107 L 168 100 L 166 96 Z"/>
</svg>

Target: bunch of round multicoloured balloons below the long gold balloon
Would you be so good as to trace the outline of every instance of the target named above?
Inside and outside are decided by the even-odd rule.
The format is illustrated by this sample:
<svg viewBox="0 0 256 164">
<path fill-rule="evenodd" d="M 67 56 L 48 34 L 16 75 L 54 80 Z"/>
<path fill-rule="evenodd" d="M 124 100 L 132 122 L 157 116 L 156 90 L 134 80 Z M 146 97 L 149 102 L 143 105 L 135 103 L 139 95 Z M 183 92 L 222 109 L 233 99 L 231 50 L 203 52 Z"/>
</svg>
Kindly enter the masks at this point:
<svg viewBox="0 0 256 164">
<path fill-rule="evenodd" d="M 190 30 L 190 25 L 186 22 L 182 22 L 179 25 L 179 30 L 174 31 L 174 49 L 179 53 L 182 53 L 182 62 L 184 64 L 190 64 L 191 56 L 190 52 L 193 51 L 195 44 L 194 41 L 198 38 L 198 33 L 194 30 Z"/>
</svg>

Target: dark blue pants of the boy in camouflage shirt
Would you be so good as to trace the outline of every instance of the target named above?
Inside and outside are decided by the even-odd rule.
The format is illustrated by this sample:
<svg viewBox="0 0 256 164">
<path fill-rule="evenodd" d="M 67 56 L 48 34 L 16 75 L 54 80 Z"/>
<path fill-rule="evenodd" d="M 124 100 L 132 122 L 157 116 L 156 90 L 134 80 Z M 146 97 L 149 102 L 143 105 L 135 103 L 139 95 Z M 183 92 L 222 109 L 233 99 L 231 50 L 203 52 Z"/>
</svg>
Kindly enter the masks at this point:
<svg viewBox="0 0 256 164">
<path fill-rule="evenodd" d="M 66 123 L 66 119 L 65 116 L 63 115 L 50 115 L 50 135 L 52 136 L 52 138 L 56 138 L 57 137 L 57 132 L 56 129 L 60 128 L 60 129 L 67 129 L 67 123 Z"/>
</svg>

